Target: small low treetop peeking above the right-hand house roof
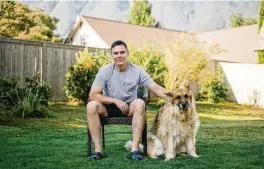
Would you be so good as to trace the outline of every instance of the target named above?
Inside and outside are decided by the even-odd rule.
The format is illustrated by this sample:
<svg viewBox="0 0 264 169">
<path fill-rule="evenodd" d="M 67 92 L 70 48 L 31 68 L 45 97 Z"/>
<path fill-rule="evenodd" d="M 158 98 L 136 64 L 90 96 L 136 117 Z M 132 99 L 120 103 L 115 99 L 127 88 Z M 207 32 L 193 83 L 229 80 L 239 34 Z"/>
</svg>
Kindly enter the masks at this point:
<svg viewBox="0 0 264 169">
<path fill-rule="evenodd" d="M 231 27 L 239 27 L 246 25 L 257 24 L 257 21 L 253 18 L 243 18 L 242 14 L 233 14 L 230 17 L 230 26 Z"/>
</svg>

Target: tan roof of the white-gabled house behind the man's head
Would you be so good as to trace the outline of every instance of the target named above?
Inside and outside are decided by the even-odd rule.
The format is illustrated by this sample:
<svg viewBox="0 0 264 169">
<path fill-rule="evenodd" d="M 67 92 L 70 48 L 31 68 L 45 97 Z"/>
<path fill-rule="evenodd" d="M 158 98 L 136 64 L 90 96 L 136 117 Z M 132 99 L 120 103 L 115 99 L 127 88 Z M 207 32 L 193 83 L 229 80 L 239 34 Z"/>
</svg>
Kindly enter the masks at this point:
<svg viewBox="0 0 264 169">
<path fill-rule="evenodd" d="M 181 31 L 146 27 L 101 18 L 80 17 L 96 30 L 109 47 L 114 41 L 123 40 L 126 43 L 133 44 L 135 47 L 142 47 L 145 42 L 151 42 L 154 46 L 162 49 L 163 45 L 170 43 L 176 34 L 182 33 Z M 76 22 L 65 41 L 73 36 L 79 24 L 79 22 Z"/>
</svg>

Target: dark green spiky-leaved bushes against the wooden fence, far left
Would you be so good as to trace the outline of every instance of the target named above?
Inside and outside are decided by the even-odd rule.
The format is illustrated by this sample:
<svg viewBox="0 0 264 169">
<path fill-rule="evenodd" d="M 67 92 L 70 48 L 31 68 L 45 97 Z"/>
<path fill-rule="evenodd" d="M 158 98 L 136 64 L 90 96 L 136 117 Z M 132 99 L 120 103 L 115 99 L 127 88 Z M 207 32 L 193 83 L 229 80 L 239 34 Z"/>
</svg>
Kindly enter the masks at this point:
<svg viewBox="0 0 264 169">
<path fill-rule="evenodd" d="M 39 74 L 30 79 L 26 88 L 17 87 L 19 77 L 0 77 L 0 109 L 2 117 L 47 117 L 51 86 L 40 82 Z M 4 112 L 4 113 L 3 113 Z"/>
</svg>

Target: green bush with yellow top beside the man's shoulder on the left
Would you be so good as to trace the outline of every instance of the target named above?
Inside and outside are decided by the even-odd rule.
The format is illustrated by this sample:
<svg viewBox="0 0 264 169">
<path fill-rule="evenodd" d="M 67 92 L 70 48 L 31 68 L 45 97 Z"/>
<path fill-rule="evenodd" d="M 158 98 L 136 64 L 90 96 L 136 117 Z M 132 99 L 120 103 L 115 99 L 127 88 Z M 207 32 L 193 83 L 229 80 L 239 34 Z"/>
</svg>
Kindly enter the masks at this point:
<svg viewBox="0 0 264 169">
<path fill-rule="evenodd" d="M 76 54 L 77 63 L 72 65 L 67 74 L 65 94 L 70 101 L 82 101 L 86 104 L 88 95 L 99 69 L 111 62 L 111 58 L 105 56 L 104 51 L 98 51 L 94 56 L 88 49 Z"/>
</svg>

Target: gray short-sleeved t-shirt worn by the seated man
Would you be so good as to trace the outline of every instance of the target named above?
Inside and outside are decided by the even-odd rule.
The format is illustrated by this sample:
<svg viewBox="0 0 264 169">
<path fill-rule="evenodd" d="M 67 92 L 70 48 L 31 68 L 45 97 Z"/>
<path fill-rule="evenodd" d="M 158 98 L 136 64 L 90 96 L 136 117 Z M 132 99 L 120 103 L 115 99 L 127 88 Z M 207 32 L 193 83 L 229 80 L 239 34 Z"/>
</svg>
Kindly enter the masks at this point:
<svg viewBox="0 0 264 169">
<path fill-rule="evenodd" d="M 154 81 L 141 67 L 128 62 L 125 72 L 119 72 L 114 63 L 103 66 L 93 86 L 103 89 L 103 95 L 129 103 L 137 98 L 138 85 L 148 87 Z"/>
</svg>

